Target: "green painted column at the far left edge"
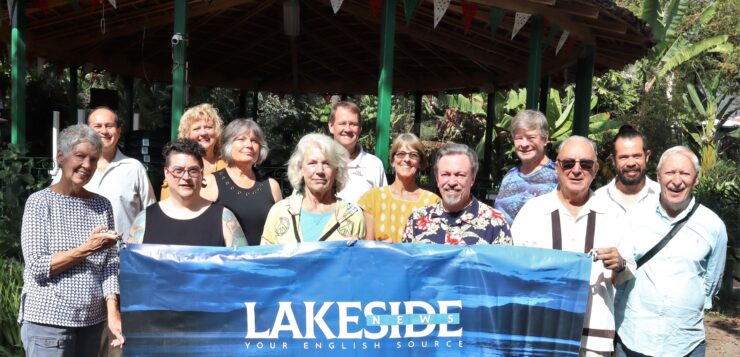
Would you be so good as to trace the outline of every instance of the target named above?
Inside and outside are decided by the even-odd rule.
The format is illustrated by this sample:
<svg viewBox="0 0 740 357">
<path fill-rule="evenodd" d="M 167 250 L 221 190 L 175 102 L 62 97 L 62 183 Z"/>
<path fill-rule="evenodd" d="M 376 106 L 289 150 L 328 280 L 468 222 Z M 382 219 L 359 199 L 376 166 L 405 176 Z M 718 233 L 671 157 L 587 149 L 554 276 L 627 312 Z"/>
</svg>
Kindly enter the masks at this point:
<svg viewBox="0 0 740 357">
<path fill-rule="evenodd" d="M 12 5 L 10 33 L 10 142 L 26 151 L 26 5 Z"/>
</svg>

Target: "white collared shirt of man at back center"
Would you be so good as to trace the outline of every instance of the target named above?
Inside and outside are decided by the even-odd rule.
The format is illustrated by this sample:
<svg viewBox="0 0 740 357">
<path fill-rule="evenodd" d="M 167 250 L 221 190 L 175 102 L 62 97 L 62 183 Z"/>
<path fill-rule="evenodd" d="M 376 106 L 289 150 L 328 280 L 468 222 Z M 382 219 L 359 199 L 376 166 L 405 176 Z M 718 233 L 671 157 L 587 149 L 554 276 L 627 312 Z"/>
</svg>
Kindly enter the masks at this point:
<svg viewBox="0 0 740 357">
<path fill-rule="evenodd" d="M 347 185 L 337 193 L 338 197 L 352 203 L 357 203 L 371 188 L 388 184 L 383 162 L 375 155 L 365 152 L 362 145 L 359 145 L 359 150 L 357 157 L 347 164 Z"/>
</svg>

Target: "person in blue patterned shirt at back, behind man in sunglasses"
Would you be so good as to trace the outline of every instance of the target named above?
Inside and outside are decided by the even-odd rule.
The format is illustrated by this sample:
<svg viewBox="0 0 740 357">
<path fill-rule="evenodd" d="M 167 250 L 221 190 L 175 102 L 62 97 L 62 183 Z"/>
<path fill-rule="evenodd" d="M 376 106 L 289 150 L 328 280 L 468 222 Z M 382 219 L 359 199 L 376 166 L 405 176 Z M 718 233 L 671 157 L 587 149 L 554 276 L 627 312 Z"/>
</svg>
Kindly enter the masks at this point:
<svg viewBox="0 0 740 357">
<path fill-rule="evenodd" d="M 509 224 L 527 201 L 558 185 L 555 162 L 547 157 L 549 128 L 547 117 L 536 110 L 523 110 L 511 122 L 514 149 L 521 163 L 504 176 L 494 204 Z"/>
</svg>

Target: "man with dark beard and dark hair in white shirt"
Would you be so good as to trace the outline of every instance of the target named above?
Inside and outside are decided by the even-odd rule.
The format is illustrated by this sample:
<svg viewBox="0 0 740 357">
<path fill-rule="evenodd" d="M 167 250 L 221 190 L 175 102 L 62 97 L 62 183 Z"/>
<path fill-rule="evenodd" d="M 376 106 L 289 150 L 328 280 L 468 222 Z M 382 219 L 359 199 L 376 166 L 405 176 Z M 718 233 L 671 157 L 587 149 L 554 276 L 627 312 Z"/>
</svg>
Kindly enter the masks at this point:
<svg viewBox="0 0 740 357">
<path fill-rule="evenodd" d="M 610 212 L 624 215 L 637 204 L 656 199 L 660 186 L 646 177 L 650 150 L 647 140 L 629 125 L 619 128 L 612 147 L 612 163 L 617 176 L 596 191 L 608 203 Z"/>
</svg>

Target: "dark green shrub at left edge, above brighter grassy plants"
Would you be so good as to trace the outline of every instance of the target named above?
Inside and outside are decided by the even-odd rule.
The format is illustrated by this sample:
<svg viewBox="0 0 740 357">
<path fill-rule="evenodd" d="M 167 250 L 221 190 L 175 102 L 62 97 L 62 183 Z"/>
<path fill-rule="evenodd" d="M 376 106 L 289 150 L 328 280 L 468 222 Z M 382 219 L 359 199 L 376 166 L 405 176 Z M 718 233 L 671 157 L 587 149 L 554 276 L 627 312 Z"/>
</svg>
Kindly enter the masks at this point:
<svg viewBox="0 0 740 357">
<path fill-rule="evenodd" d="M 14 146 L 0 151 L 0 257 L 22 259 L 21 223 L 28 196 L 47 182 L 34 178 L 34 163 Z"/>
</svg>

